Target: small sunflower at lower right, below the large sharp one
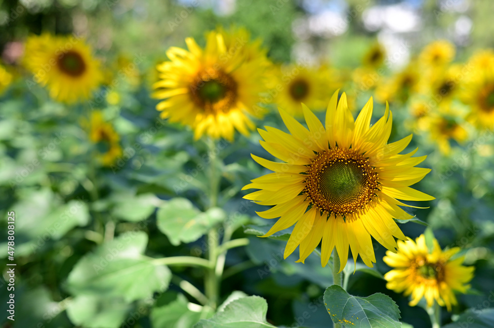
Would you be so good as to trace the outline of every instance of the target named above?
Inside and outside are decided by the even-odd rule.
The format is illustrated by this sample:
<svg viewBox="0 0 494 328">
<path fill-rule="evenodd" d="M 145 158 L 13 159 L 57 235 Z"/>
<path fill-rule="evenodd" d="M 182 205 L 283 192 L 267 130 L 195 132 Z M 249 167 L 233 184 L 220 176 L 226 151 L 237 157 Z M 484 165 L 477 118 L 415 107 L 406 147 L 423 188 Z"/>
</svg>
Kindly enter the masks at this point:
<svg viewBox="0 0 494 328">
<path fill-rule="evenodd" d="M 425 297 L 427 306 L 431 307 L 434 300 L 451 311 L 451 306 L 457 304 L 453 291 L 466 292 L 473 278 L 473 266 L 463 266 L 463 256 L 454 258 L 460 251 L 459 247 L 441 250 L 436 239 L 433 249 L 429 252 L 424 235 L 416 242 L 398 241 L 398 253 L 386 252 L 384 262 L 394 269 L 384 275 L 386 287 L 395 292 L 412 294 L 411 306 L 417 305 Z"/>
</svg>

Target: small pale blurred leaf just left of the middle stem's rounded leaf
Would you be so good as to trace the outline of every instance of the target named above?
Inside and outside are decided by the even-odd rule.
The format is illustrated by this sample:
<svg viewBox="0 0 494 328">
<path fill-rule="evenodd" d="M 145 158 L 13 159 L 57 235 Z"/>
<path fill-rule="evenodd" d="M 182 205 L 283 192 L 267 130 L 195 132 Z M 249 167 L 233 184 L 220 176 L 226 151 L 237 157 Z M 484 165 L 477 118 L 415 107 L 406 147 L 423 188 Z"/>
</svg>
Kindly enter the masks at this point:
<svg viewBox="0 0 494 328">
<path fill-rule="evenodd" d="M 149 218 L 161 200 L 153 194 L 119 195 L 113 215 L 125 221 L 138 222 Z"/>
</svg>

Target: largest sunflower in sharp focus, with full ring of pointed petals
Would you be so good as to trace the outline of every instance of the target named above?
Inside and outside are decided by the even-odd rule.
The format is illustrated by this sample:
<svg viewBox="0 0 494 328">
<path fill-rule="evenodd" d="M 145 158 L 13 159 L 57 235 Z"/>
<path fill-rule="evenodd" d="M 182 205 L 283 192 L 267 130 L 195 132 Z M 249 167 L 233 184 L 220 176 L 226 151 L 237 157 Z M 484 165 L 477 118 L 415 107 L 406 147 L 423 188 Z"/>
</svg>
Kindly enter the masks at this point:
<svg viewBox="0 0 494 328">
<path fill-rule="evenodd" d="M 399 205 L 402 200 L 432 200 L 412 189 L 429 169 L 416 168 L 426 156 L 411 157 L 416 149 L 400 155 L 412 136 L 386 144 L 391 133 L 392 115 L 388 108 L 372 127 L 372 98 L 354 121 L 343 93 L 336 91 L 329 101 L 326 128 L 314 113 L 302 105 L 308 128 L 280 109 L 290 134 L 266 127 L 259 129 L 264 147 L 283 162 L 252 155 L 260 165 L 274 171 L 252 180 L 244 189 L 256 188 L 244 198 L 260 205 L 275 205 L 258 212 L 261 218 L 280 218 L 263 236 L 295 224 L 285 248 L 285 258 L 297 246 L 300 259 L 312 253 L 322 240 L 321 264 L 328 263 L 336 248 L 340 271 L 348 259 L 350 246 L 354 261 L 360 254 L 364 263 L 375 262 L 371 236 L 394 251 L 393 236 L 406 237 L 393 220 L 410 219 Z"/>
</svg>

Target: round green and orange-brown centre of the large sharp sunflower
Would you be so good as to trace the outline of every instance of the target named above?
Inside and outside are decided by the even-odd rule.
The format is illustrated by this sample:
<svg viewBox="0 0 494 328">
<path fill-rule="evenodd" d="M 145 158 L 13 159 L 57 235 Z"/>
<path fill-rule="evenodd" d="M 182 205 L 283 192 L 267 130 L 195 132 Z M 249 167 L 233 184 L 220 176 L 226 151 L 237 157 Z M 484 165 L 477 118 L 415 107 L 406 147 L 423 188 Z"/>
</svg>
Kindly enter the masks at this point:
<svg viewBox="0 0 494 328">
<path fill-rule="evenodd" d="M 334 147 L 318 153 L 306 174 L 303 192 L 329 215 L 347 216 L 364 209 L 379 190 L 369 158 L 353 149 Z"/>
</svg>

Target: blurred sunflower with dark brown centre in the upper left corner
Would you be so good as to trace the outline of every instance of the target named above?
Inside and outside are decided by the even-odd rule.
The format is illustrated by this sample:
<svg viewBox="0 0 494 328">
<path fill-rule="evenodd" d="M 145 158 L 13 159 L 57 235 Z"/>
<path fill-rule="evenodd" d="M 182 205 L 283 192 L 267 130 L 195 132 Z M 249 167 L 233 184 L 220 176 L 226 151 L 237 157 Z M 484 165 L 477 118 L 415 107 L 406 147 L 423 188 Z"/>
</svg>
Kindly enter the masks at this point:
<svg viewBox="0 0 494 328">
<path fill-rule="evenodd" d="M 50 96 L 60 102 L 89 99 L 103 79 L 89 46 L 74 36 L 28 37 L 24 65 L 34 81 L 46 85 Z"/>
</svg>

